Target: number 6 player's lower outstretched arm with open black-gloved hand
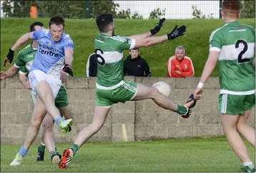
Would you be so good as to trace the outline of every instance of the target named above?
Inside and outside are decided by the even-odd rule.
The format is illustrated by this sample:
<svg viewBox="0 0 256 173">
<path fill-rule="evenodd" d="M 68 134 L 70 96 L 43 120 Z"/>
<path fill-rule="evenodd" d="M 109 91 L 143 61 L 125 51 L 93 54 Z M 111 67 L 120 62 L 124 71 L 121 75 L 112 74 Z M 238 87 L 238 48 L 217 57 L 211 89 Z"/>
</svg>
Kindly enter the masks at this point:
<svg viewBox="0 0 256 173">
<path fill-rule="evenodd" d="M 147 46 L 153 46 L 155 44 L 162 43 L 164 41 L 167 41 L 169 39 L 176 39 L 178 36 L 184 35 L 184 32 L 186 31 L 186 26 L 175 26 L 174 29 L 169 33 L 162 36 L 150 36 L 146 39 L 135 39 L 135 46 L 134 49 L 137 49 L 139 47 L 147 47 Z"/>
</svg>

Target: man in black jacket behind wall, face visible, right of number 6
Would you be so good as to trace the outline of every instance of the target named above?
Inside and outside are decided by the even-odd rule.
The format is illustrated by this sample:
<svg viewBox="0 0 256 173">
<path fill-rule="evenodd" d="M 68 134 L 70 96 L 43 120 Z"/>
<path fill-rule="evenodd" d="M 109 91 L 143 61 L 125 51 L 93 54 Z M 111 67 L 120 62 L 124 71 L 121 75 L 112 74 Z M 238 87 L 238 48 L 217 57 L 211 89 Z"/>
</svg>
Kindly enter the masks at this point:
<svg viewBox="0 0 256 173">
<path fill-rule="evenodd" d="M 151 76 L 147 61 L 139 56 L 139 49 L 130 49 L 124 61 L 124 76 Z"/>
</svg>

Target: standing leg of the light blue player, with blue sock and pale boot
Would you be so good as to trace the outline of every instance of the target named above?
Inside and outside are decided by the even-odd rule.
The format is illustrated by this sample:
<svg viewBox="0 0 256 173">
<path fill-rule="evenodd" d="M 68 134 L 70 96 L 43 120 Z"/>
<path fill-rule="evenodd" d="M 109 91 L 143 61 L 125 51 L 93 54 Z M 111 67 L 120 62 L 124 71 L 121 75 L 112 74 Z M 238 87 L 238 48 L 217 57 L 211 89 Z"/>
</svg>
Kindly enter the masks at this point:
<svg viewBox="0 0 256 173">
<path fill-rule="evenodd" d="M 43 121 L 45 115 L 46 109 L 44 107 L 44 103 L 41 102 L 41 99 L 36 98 L 36 104 L 34 105 L 31 124 L 26 132 L 25 142 L 22 144 L 21 148 L 19 149 L 19 153 L 16 154 L 16 157 L 13 162 L 11 162 L 10 166 L 18 166 L 21 164 L 22 158 L 25 157 L 27 152 L 29 152 L 29 147 L 36 139 L 41 122 Z"/>
</svg>

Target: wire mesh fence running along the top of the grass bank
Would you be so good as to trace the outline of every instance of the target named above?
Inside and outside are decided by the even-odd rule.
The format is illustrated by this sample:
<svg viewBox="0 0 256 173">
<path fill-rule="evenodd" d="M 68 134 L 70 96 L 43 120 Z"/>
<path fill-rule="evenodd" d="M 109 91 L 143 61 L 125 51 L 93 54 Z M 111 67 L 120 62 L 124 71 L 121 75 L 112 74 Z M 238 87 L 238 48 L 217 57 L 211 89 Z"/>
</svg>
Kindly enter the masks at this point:
<svg viewBox="0 0 256 173">
<path fill-rule="evenodd" d="M 242 1 L 244 3 L 245 1 Z M 248 1 L 247 1 L 248 2 Z M 1 1 L 1 17 L 51 17 L 86 19 L 111 12 L 121 19 L 220 19 L 222 0 L 214 1 Z M 36 14 L 31 11 L 36 6 Z M 255 1 L 250 1 L 255 17 Z M 34 11 L 35 12 L 35 11 Z"/>
</svg>

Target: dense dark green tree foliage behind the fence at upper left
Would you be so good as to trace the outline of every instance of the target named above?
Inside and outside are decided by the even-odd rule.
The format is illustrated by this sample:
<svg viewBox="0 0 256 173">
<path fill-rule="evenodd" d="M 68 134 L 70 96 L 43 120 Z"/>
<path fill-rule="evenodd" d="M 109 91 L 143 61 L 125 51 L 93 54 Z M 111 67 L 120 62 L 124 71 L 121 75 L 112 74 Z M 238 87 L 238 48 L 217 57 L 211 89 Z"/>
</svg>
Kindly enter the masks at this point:
<svg viewBox="0 0 256 173">
<path fill-rule="evenodd" d="M 3 12 L 5 16 L 29 17 L 29 9 L 33 1 L 4 0 Z M 84 18 L 86 1 L 36 1 L 39 17 L 61 15 L 64 18 Z M 117 7 L 114 1 L 89 1 L 90 17 L 95 18 L 102 13 L 112 13 L 117 16 Z"/>
</svg>

